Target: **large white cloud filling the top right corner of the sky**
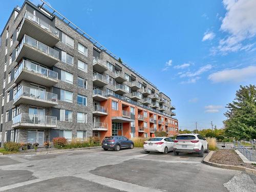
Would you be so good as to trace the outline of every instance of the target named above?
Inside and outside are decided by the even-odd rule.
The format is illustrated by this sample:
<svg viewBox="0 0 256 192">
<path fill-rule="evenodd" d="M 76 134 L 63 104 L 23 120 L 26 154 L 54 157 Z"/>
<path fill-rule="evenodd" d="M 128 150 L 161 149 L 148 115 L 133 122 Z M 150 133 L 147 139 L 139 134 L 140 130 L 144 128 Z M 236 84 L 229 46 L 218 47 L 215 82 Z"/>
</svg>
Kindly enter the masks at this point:
<svg viewBox="0 0 256 192">
<path fill-rule="evenodd" d="M 220 51 L 222 54 L 249 50 L 253 44 L 243 45 L 243 41 L 256 35 L 256 1 L 251 0 L 223 0 L 227 10 L 222 19 L 220 30 L 229 35 L 221 39 L 219 46 L 212 53 Z"/>
</svg>

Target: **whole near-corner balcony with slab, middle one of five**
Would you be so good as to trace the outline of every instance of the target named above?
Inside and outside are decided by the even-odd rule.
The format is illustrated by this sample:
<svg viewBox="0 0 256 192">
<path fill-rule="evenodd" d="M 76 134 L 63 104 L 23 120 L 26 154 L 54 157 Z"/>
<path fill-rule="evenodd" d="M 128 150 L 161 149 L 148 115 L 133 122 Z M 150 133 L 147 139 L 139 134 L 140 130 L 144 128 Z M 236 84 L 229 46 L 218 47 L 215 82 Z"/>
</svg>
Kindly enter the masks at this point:
<svg viewBox="0 0 256 192">
<path fill-rule="evenodd" d="M 42 86 L 52 87 L 58 83 L 58 73 L 27 60 L 22 60 L 14 73 L 15 83 L 27 80 Z"/>
</svg>

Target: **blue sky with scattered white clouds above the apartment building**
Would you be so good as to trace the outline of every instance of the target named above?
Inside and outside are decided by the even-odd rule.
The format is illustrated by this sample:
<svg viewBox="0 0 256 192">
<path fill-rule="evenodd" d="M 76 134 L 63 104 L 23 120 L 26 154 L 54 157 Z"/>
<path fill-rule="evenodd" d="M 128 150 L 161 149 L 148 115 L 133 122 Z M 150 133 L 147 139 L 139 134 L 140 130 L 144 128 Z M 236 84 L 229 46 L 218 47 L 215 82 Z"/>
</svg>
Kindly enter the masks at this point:
<svg viewBox="0 0 256 192">
<path fill-rule="evenodd" d="M 166 93 L 181 129 L 223 127 L 225 105 L 256 82 L 255 1 L 48 2 Z M 22 4 L 2 2 L 1 29 Z"/>
</svg>

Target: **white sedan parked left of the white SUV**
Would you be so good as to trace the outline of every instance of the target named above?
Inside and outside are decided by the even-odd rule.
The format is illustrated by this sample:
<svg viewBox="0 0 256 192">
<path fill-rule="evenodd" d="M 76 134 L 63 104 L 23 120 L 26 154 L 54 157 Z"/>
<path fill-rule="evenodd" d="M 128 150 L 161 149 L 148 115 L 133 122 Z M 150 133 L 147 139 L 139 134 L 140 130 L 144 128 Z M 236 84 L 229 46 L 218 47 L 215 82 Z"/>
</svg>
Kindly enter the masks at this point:
<svg viewBox="0 0 256 192">
<path fill-rule="evenodd" d="M 169 137 L 153 137 L 148 139 L 143 144 L 144 151 L 150 152 L 162 152 L 167 154 L 174 149 L 174 140 Z"/>
</svg>

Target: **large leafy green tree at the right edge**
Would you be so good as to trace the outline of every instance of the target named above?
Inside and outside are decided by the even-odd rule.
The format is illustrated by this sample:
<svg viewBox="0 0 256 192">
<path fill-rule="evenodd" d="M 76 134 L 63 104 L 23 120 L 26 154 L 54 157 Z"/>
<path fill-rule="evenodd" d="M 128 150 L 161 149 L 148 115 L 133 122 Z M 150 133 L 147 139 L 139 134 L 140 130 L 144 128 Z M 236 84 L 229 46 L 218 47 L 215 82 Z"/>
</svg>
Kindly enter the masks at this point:
<svg viewBox="0 0 256 192">
<path fill-rule="evenodd" d="M 239 140 L 256 138 L 256 87 L 240 86 L 236 98 L 226 108 L 227 120 L 223 121 L 226 136 Z"/>
</svg>

